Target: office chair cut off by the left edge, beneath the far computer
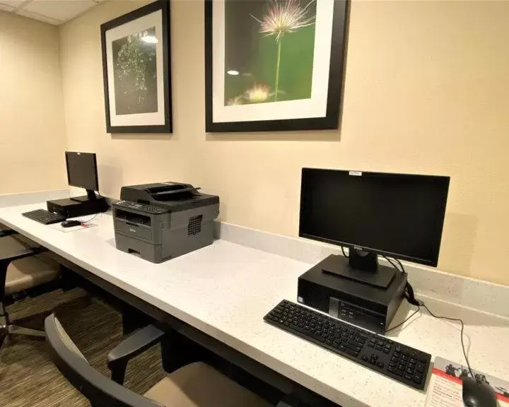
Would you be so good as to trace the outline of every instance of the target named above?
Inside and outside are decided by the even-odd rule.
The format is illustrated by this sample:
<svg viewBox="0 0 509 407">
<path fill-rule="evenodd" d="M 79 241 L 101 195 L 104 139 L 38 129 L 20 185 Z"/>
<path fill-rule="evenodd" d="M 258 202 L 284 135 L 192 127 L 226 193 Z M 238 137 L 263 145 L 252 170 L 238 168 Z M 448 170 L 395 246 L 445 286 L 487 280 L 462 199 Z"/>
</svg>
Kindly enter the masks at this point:
<svg viewBox="0 0 509 407">
<path fill-rule="evenodd" d="M 23 235 L 0 224 L 0 348 L 7 336 L 28 335 L 44 338 L 44 331 L 14 324 L 6 305 L 54 290 L 52 284 L 59 276 L 59 265 L 45 256 L 46 249 L 39 247 Z"/>
</svg>

